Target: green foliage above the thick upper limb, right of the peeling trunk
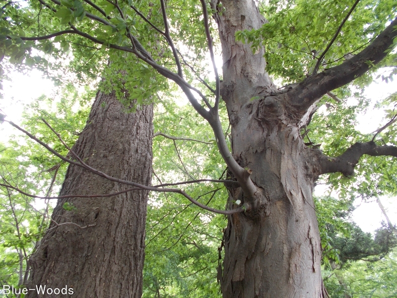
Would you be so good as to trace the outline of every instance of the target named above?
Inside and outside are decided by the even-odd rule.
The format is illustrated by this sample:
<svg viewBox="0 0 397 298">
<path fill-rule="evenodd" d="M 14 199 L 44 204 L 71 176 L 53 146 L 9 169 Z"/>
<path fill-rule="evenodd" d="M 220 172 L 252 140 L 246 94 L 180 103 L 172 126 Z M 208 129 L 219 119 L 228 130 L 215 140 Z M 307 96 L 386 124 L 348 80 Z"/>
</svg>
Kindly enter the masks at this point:
<svg viewBox="0 0 397 298">
<path fill-rule="evenodd" d="M 284 83 L 298 82 L 313 73 L 317 58 L 327 48 L 351 5 L 350 0 L 269 1 L 268 5 L 261 6 L 268 22 L 258 30 L 240 31 L 236 38 L 249 42 L 254 52 L 265 47 L 269 74 Z M 396 13 L 393 0 L 360 1 L 325 53 L 321 69 L 350 59 L 379 34 Z M 396 55 L 389 56 L 382 66 L 397 66 Z"/>
</svg>

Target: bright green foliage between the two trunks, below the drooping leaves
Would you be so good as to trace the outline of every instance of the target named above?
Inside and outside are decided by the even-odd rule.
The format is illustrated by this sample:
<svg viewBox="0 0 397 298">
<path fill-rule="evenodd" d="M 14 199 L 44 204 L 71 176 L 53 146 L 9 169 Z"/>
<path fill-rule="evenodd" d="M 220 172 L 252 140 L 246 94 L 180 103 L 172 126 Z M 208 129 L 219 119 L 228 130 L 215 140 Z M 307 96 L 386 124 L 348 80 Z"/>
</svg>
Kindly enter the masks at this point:
<svg viewBox="0 0 397 298">
<path fill-rule="evenodd" d="M 221 109 L 222 117 L 224 109 Z M 152 184 L 192 179 L 218 179 L 225 171 L 210 128 L 190 106 L 162 100 L 157 105 L 155 132 L 198 141 L 154 138 Z M 226 130 L 226 128 L 225 128 Z M 179 156 L 178 156 L 179 154 Z M 225 178 L 225 177 L 223 177 Z M 199 202 L 224 209 L 228 198 L 223 184 L 182 185 Z M 185 198 L 152 193 L 146 223 L 144 298 L 221 297 L 216 283 L 218 247 L 226 219 L 201 210 Z"/>
</svg>

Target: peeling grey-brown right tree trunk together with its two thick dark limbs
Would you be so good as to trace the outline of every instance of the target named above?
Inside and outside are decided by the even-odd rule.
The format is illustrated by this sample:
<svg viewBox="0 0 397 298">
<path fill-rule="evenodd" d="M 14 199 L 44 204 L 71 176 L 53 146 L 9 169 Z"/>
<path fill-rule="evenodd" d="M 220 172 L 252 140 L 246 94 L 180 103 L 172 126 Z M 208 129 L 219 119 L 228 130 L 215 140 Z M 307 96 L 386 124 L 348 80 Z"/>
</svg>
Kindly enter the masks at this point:
<svg viewBox="0 0 397 298">
<path fill-rule="evenodd" d="M 378 63 L 387 55 L 397 36 L 397 19 L 354 59 L 278 90 L 265 72 L 264 51 L 253 54 L 250 45 L 235 39 L 236 31 L 265 23 L 255 1 L 221 2 L 215 16 L 223 55 L 220 92 L 229 113 L 233 158 L 249 175 L 241 179 L 236 167 L 229 166 L 240 182 L 240 187 L 229 187 L 230 202 L 240 200 L 247 212 L 228 216 L 223 297 L 328 297 L 321 277 L 314 182 L 325 173 L 352 175 L 363 154 L 397 156 L 397 149 L 371 141 L 330 157 L 305 146 L 300 131 L 319 98 L 367 72 L 366 61 Z"/>
</svg>

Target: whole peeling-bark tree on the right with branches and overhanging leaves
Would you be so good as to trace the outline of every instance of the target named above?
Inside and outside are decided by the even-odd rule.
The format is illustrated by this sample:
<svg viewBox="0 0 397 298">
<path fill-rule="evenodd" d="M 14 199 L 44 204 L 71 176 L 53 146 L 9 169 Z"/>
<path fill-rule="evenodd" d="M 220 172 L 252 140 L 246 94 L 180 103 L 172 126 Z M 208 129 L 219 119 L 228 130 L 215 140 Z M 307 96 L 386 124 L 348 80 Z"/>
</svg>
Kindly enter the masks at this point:
<svg viewBox="0 0 397 298">
<path fill-rule="evenodd" d="M 397 155 L 391 127 L 394 115 L 372 136 L 351 134 L 345 128 L 335 130 L 344 124 L 348 127 L 354 120 L 349 103 L 339 99 L 349 94 L 347 84 L 375 70 L 375 65 L 396 64 L 392 52 L 397 36 L 393 2 L 270 1 L 268 5 L 260 3 L 258 8 L 250 0 L 223 0 L 211 5 L 201 1 L 200 7 L 194 2 L 185 3 L 188 9 L 183 12 L 178 1 L 160 1 L 158 6 L 151 2 L 139 2 L 139 7 L 135 4 L 52 0 L 18 7 L 10 3 L 3 7 L 7 13 L 2 20 L 3 52 L 10 61 L 27 63 L 28 58 L 33 59 L 28 57 L 31 47 L 58 55 L 67 50 L 69 42 L 83 44 L 94 52 L 101 45 L 112 61 L 108 67 L 102 64 L 107 78 L 103 90 L 118 90 L 116 97 L 123 99 L 123 85 L 129 98 L 138 104 L 153 92 L 161 94 L 160 90 L 169 84 L 165 78 L 173 81 L 212 128 L 228 177 L 235 181 L 227 184 L 229 211 L 217 211 L 229 214 L 223 240 L 223 272 L 219 275 L 223 296 L 326 297 L 312 198 L 314 183 L 328 173 L 351 176 L 364 154 Z M 208 11 L 214 17 L 212 24 Z M 33 21 L 39 16 L 41 21 L 47 20 L 45 34 L 43 23 Z M 29 34 L 22 32 L 22 21 L 31 25 Z M 189 31 L 184 30 L 188 25 Z M 223 56 L 222 82 L 215 67 L 211 37 L 216 25 Z M 69 40 L 71 35 L 77 39 Z M 63 50 L 53 46 L 52 38 Z M 263 46 L 267 49 L 267 70 L 296 84 L 276 88 L 265 72 Z M 205 48 L 210 53 L 214 81 L 205 74 L 199 76 L 202 64 L 198 60 Z M 193 54 L 196 57 L 190 59 Z M 46 65 L 42 59 L 37 60 L 39 66 Z M 366 78 L 354 83 L 363 84 Z M 327 100 L 321 101 L 325 94 L 338 104 L 338 115 L 317 114 L 321 119 L 311 122 Z M 128 106 L 129 102 L 124 102 Z M 219 117 L 224 113 L 223 104 L 231 125 L 231 150 Z M 330 125 L 314 126 L 316 130 L 311 133 L 311 125 L 320 121 Z M 319 136 L 333 138 L 334 142 L 327 142 L 321 151 L 320 142 L 315 142 Z M 310 138 L 309 142 L 305 138 Z M 374 189 L 395 189 L 390 167 L 395 161 L 376 158 L 372 160 L 374 171 L 358 168 L 367 182 L 357 189 L 362 195 Z M 190 177 L 190 170 L 179 159 Z M 388 183 L 373 187 L 373 174 L 377 178 L 382 175 Z M 338 175 L 331 175 L 334 187 Z M 353 182 L 341 186 L 340 192 L 351 190 Z M 200 205 L 180 189 L 133 186 L 179 193 Z"/>
</svg>

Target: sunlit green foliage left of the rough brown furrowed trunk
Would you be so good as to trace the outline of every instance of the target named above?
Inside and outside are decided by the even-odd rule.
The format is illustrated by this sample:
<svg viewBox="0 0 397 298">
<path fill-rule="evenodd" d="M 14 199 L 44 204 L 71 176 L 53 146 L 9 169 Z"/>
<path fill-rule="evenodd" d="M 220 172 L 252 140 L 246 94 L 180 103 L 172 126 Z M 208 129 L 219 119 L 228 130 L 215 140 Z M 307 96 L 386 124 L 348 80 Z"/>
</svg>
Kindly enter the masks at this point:
<svg viewBox="0 0 397 298">
<path fill-rule="evenodd" d="M 23 125 L 66 155 L 64 145 L 42 119 L 72 146 L 85 124 L 92 94 L 79 95 L 70 85 L 60 93 L 56 100 L 41 97 L 27 107 Z M 79 107 L 73 113 L 75 105 Z M 5 186 L 36 196 L 56 196 L 67 165 L 26 136 L 12 136 L 0 146 L 0 283 L 17 288 L 26 281 L 27 260 L 48 227 L 52 205 L 50 200 L 37 200 Z"/>
</svg>

